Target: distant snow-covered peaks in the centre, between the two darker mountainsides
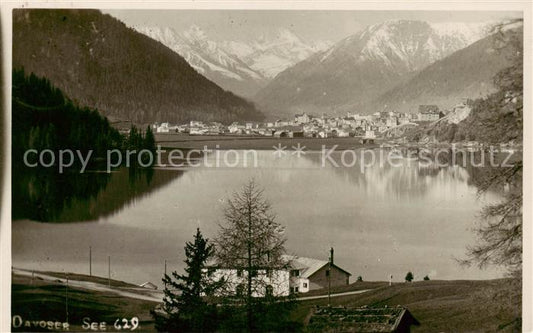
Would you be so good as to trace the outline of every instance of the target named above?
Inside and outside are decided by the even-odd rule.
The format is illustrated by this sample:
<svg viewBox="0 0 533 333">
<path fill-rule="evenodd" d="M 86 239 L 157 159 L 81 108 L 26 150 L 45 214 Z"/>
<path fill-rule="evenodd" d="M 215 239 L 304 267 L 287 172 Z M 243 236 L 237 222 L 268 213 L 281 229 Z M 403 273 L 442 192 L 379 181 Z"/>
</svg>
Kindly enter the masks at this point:
<svg viewBox="0 0 533 333">
<path fill-rule="evenodd" d="M 283 28 L 254 41 L 216 41 L 197 25 L 185 31 L 133 28 L 183 56 L 198 73 L 244 97 L 253 97 L 281 71 L 331 46 L 327 41 L 304 41 Z"/>
</svg>

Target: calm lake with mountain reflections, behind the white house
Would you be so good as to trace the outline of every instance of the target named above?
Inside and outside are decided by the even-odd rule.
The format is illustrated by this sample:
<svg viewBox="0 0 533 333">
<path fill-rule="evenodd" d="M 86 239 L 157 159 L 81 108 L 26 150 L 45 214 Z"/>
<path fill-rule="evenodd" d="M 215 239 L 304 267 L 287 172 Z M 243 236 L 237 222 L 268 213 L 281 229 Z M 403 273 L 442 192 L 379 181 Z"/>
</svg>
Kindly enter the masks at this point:
<svg viewBox="0 0 533 333">
<path fill-rule="evenodd" d="M 323 165 L 318 151 L 300 157 L 255 154 L 257 165 L 240 160 L 225 168 L 202 163 L 133 175 L 125 168 L 51 175 L 40 186 L 45 177 L 39 175 L 16 180 L 30 190 L 14 195 L 13 266 L 88 274 L 91 247 L 93 275 L 107 276 L 110 256 L 112 278 L 161 286 L 165 260 L 168 271 L 181 270 L 183 247 L 196 228 L 215 237 L 225 200 L 254 178 L 286 227 L 287 252 L 327 260 L 334 247 L 335 263 L 352 273 L 351 281 L 359 275 L 388 280 L 392 274 L 400 282 L 408 271 L 416 280 L 504 275 L 455 260 L 475 243 L 472 228 L 480 209 L 501 198 L 495 191 L 478 196 L 472 179 L 481 170 L 421 167 L 407 159 L 399 166 L 336 167 Z M 216 157 L 208 155 L 207 165 L 215 165 Z M 332 160 L 339 162 L 340 154 Z"/>
</svg>

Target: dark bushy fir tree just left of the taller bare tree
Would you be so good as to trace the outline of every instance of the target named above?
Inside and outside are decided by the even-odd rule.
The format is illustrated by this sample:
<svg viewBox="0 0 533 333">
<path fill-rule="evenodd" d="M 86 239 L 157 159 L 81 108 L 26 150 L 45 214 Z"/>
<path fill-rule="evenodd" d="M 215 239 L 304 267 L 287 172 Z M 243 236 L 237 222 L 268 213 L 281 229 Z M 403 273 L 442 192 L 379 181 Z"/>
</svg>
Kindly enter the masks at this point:
<svg viewBox="0 0 533 333">
<path fill-rule="evenodd" d="M 206 263 L 214 254 L 200 229 L 193 242 L 185 245 L 185 274 L 165 274 L 164 315 L 154 313 L 156 328 L 170 332 L 212 332 L 216 329 L 216 306 L 207 299 L 223 281 L 212 282 L 206 274 Z"/>
</svg>

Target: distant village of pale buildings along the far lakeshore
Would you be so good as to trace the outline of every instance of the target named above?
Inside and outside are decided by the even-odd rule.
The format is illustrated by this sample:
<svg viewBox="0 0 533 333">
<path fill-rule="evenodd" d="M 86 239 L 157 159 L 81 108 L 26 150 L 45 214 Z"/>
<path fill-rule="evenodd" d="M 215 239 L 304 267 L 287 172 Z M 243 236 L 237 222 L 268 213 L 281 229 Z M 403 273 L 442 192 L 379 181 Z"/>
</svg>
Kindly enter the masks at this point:
<svg viewBox="0 0 533 333">
<path fill-rule="evenodd" d="M 466 107 L 464 103 L 456 108 Z M 362 137 L 375 138 L 383 132 L 404 125 L 437 121 L 448 112 L 439 110 L 437 105 L 420 105 L 417 113 L 381 111 L 371 115 L 348 113 L 344 117 L 319 117 L 302 113 L 294 119 L 273 122 L 234 122 L 223 125 L 219 122 L 192 120 L 186 124 L 168 122 L 152 124 L 156 133 L 184 133 L 189 135 L 251 135 L 278 138 L 333 138 Z"/>
</svg>

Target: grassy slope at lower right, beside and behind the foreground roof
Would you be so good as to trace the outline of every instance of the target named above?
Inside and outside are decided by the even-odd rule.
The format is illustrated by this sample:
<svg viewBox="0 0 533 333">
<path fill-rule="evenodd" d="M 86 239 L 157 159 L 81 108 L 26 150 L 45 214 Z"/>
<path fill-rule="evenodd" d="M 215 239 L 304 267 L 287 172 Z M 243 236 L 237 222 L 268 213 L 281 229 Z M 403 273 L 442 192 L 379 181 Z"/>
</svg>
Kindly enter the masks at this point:
<svg viewBox="0 0 533 333">
<path fill-rule="evenodd" d="M 421 323 L 413 332 L 514 332 L 521 295 L 512 284 L 510 279 L 397 283 L 332 298 L 332 305 L 403 305 Z M 315 305 L 327 305 L 327 299 L 302 302 L 294 318 L 304 321 Z"/>
</svg>

